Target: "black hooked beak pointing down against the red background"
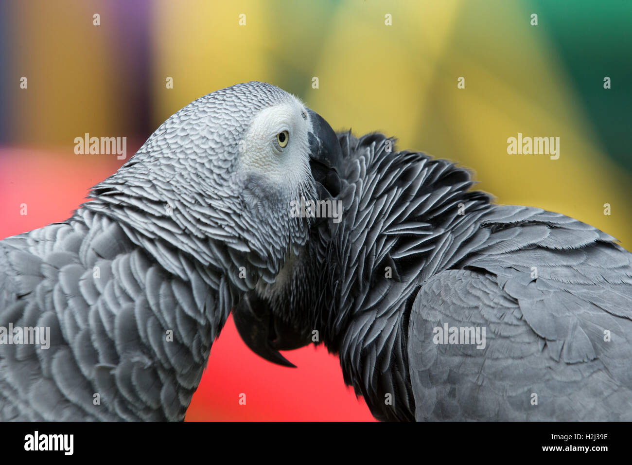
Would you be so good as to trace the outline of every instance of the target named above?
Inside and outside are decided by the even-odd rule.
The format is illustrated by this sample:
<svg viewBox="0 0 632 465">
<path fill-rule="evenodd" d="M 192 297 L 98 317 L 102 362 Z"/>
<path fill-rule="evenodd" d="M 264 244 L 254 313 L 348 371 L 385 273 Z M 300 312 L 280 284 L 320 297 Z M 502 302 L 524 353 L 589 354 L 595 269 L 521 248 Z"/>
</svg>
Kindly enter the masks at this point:
<svg viewBox="0 0 632 465">
<path fill-rule="evenodd" d="M 233 319 L 237 332 L 250 350 L 272 363 L 296 368 L 279 350 L 298 349 L 312 342 L 310 333 L 299 332 L 275 318 L 267 302 L 252 291 L 234 307 Z"/>
</svg>

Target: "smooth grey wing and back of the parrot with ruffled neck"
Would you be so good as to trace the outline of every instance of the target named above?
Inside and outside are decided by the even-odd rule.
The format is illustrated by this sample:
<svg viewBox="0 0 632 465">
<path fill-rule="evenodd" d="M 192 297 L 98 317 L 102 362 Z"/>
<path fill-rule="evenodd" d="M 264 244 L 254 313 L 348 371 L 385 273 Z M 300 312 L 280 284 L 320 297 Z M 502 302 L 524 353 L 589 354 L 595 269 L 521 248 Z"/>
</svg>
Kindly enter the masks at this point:
<svg viewBox="0 0 632 465">
<path fill-rule="evenodd" d="M 416 417 L 631 419 L 629 252 L 585 223 L 535 208 L 497 207 L 478 232 L 485 242 L 430 278 L 413 303 Z M 428 328 L 444 323 L 489 328 L 487 347 L 428 344 Z M 413 363 L 413 353 L 423 355 Z M 430 388 L 427 377 L 444 381 Z"/>
</svg>

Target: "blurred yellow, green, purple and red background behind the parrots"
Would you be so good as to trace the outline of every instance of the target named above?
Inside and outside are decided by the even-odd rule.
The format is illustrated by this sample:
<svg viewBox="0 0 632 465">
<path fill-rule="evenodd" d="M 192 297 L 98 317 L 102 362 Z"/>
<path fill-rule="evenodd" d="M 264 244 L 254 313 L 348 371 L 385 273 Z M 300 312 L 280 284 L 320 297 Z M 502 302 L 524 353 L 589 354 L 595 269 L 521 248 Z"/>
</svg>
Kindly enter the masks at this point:
<svg viewBox="0 0 632 465">
<path fill-rule="evenodd" d="M 126 137 L 129 159 L 194 99 L 261 80 L 632 249 L 631 24 L 627 0 L 2 1 L 0 239 L 65 220 L 125 163 L 75 154 L 75 137 Z M 559 159 L 507 154 L 518 133 L 559 137 Z M 228 321 L 186 419 L 372 420 L 324 348 L 286 356 L 298 368 Z"/>
</svg>

